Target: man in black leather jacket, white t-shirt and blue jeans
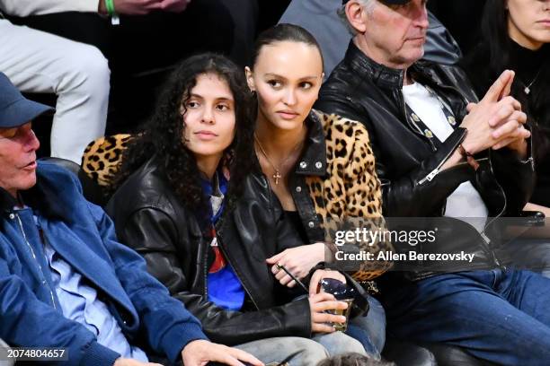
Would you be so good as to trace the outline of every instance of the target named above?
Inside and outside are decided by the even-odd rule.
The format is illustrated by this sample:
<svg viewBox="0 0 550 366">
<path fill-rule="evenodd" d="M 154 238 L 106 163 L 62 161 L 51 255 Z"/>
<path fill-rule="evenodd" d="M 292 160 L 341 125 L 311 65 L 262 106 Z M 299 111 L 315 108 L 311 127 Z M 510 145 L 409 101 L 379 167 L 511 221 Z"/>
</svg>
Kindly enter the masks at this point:
<svg viewBox="0 0 550 366">
<path fill-rule="evenodd" d="M 407 269 L 379 281 L 388 334 L 496 364 L 546 364 L 550 280 L 503 266 L 495 239 L 494 219 L 518 216 L 534 182 L 527 116 L 509 96 L 514 73 L 477 100 L 460 69 L 419 61 L 426 0 L 344 0 L 341 13 L 353 39 L 315 107 L 367 126 L 390 229 L 392 217 L 443 224 L 425 227 L 433 243 L 396 248 L 475 255 L 396 263 Z"/>
</svg>

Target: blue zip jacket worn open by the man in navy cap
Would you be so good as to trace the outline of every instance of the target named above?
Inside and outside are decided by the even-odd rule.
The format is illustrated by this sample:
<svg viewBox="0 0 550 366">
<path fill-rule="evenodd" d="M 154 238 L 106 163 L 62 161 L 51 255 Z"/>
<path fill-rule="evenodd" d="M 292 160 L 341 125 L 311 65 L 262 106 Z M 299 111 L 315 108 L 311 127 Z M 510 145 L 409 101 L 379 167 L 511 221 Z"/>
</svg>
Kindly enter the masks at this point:
<svg viewBox="0 0 550 366">
<path fill-rule="evenodd" d="M 21 192 L 22 200 L 38 213 L 49 246 L 97 291 L 129 342 L 143 336 L 175 363 L 185 344 L 207 339 L 199 320 L 147 273 L 145 259 L 116 239 L 111 219 L 84 199 L 75 174 L 38 161 L 36 175 L 37 184 Z M 0 309 L 7 311 L 0 312 L 0 334 L 13 344 L 62 344 L 67 366 L 113 364 L 120 353 L 63 315 L 31 209 L 13 212 L 14 201 L 0 188 Z"/>
</svg>

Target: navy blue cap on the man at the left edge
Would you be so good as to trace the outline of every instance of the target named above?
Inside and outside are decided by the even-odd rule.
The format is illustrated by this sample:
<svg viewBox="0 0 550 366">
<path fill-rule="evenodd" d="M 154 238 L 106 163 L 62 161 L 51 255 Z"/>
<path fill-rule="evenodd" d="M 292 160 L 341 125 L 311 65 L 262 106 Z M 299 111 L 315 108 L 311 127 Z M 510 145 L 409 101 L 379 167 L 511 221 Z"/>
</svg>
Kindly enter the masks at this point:
<svg viewBox="0 0 550 366">
<path fill-rule="evenodd" d="M 0 73 L 0 128 L 22 126 L 42 113 L 53 110 L 23 97 L 10 79 Z"/>
</svg>

